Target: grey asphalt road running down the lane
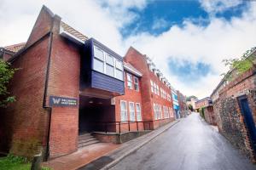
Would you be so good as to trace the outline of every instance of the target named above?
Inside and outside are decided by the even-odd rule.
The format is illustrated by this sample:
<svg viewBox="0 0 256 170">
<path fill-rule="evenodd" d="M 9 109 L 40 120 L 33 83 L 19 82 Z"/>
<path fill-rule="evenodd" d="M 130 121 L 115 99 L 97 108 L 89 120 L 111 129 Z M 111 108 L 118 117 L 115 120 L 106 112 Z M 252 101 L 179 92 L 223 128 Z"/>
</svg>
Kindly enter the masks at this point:
<svg viewBox="0 0 256 170">
<path fill-rule="evenodd" d="M 256 165 L 193 113 L 125 157 L 115 169 L 253 170 Z"/>
</svg>

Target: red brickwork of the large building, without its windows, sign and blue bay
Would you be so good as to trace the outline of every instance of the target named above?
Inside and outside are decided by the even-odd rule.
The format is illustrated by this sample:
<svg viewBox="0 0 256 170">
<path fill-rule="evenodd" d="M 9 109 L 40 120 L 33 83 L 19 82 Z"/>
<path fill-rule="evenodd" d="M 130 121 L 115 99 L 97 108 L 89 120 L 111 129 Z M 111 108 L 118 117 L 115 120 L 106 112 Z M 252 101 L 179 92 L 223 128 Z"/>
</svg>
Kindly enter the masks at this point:
<svg viewBox="0 0 256 170">
<path fill-rule="evenodd" d="M 1 111 L 0 138 L 4 139 L 0 141 L 1 151 L 33 156 L 43 150 L 50 158 L 54 158 L 78 150 L 79 105 L 49 106 L 49 96 L 81 100 L 81 46 L 61 37 L 60 26 L 61 18 L 53 15 L 48 8 L 42 8 L 25 48 L 9 60 L 13 67 L 20 70 L 16 71 L 9 86 L 17 101 Z M 131 131 L 144 130 L 145 121 L 151 123 L 151 129 L 172 122 L 171 88 L 160 81 L 154 72 L 149 71 L 145 56 L 134 48 L 128 50 L 124 59 L 140 71 L 142 76 L 125 71 L 125 95 L 115 97 L 114 106 L 106 106 L 105 103 L 99 120 L 120 122 L 120 101 L 123 100 L 127 102 L 127 121 L 131 121 L 129 102 L 134 103 L 134 121 L 139 121 L 131 122 Z M 127 88 L 127 73 L 132 77 L 132 89 Z M 138 78 L 138 91 L 134 89 L 135 77 Z M 159 93 L 161 88 L 170 94 L 170 98 L 164 99 L 161 94 L 152 93 L 150 81 L 157 84 Z M 141 121 L 137 120 L 137 104 L 141 108 Z M 158 120 L 154 118 L 154 104 L 161 107 Z M 165 117 L 163 106 L 170 108 L 170 116 Z M 118 128 L 115 127 L 116 132 Z M 127 123 L 122 123 L 121 128 L 127 131 Z"/>
</svg>

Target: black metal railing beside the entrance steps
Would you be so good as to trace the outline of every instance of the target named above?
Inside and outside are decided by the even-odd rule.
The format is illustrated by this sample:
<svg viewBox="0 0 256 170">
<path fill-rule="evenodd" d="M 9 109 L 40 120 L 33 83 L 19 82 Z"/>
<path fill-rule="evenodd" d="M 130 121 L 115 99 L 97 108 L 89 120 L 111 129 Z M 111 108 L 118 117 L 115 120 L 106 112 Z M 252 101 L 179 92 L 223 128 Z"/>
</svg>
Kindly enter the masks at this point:
<svg viewBox="0 0 256 170">
<path fill-rule="evenodd" d="M 89 124 L 91 131 L 104 133 L 138 132 L 153 129 L 153 121 L 89 122 Z"/>
</svg>

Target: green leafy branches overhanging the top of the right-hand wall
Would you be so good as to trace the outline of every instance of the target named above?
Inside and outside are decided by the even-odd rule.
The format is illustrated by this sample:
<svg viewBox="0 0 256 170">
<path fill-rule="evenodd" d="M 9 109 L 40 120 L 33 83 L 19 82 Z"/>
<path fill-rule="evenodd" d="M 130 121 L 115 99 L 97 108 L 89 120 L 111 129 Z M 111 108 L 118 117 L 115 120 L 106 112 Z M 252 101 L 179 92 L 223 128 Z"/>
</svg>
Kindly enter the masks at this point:
<svg viewBox="0 0 256 170">
<path fill-rule="evenodd" d="M 254 49 L 255 48 L 247 50 L 247 52 L 238 59 L 223 59 L 224 65 L 229 66 L 230 68 L 229 72 L 221 74 L 221 76 L 224 76 L 225 81 L 230 82 L 233 80 L 233 70 L 236 70 L 236 75 L 241 75 L 255 65 L 253 62 L 255 61 L 256 56 L 255 54 L 251 54 Z"/>
</svg>

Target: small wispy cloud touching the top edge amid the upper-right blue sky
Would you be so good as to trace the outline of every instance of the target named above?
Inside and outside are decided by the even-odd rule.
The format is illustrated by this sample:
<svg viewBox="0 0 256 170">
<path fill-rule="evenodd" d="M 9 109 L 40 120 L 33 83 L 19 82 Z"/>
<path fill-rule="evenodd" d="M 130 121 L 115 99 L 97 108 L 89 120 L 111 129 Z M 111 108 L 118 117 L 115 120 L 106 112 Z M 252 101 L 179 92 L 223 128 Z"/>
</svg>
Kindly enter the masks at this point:
<svg viewBox="0 0 256 170">
<path fill-rule="evenodd" d="M 216 14 L 240 5 L 242 0 L 200 0 L 200 3 L 209 14 Z"/>
</svg>

